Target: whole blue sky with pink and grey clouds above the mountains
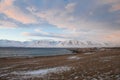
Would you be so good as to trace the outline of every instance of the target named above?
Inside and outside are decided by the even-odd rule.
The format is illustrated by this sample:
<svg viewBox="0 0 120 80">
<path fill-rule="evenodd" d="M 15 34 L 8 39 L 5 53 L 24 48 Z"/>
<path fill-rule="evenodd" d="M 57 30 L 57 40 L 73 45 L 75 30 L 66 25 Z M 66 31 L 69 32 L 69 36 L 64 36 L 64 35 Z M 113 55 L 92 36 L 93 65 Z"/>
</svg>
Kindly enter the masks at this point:
<svg viewBox="0 0 120 80">
<path fill-rule="evenodd" d="M 0 39 L 120 43 L 120 0 L 0 0 Z"/>
</svg>

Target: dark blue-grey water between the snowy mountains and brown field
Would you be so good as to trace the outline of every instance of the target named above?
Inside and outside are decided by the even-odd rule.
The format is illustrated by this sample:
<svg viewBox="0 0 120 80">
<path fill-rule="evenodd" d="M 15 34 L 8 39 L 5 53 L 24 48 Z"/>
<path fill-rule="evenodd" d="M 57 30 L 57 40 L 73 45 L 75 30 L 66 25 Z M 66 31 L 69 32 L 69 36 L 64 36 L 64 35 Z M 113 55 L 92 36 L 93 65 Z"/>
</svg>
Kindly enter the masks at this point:
<svg viewBox="0 0 120 80">
<path fill-rule="evenodd" d="M 35 57 L 71 53 L 64 48 L 0 48 L 0 57 Z"/>
</svg>

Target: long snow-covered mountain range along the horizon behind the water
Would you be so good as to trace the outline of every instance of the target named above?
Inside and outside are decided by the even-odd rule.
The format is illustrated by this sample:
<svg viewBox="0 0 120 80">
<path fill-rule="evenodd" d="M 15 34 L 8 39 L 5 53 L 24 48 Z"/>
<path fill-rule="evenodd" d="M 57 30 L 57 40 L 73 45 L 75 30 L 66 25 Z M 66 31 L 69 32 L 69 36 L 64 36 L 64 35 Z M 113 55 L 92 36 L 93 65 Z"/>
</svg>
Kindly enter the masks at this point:
<svg viewBox="0 0 120 80">
<path fill-rule="evenodd" d="M 12 41 L 0 40 L 0 47 L 115 47 L 112 43 L 92 41 L 54 41 L 54 40 L 33 40 L 33 41 Z"/>
</svg>

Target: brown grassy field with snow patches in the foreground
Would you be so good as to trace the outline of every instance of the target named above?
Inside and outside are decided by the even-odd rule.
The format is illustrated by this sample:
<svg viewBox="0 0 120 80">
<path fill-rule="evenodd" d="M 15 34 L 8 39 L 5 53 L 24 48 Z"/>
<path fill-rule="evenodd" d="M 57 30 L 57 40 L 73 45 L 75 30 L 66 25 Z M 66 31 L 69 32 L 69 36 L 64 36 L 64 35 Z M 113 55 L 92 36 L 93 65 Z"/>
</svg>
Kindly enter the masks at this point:
<svg viewBox="0 0 120 80">
<path fill-rule="evenodd" d="M 74 53 L 0 58 L 0 80 L 120 80 L 120 48 L 70 50 Z"/>
</svg>

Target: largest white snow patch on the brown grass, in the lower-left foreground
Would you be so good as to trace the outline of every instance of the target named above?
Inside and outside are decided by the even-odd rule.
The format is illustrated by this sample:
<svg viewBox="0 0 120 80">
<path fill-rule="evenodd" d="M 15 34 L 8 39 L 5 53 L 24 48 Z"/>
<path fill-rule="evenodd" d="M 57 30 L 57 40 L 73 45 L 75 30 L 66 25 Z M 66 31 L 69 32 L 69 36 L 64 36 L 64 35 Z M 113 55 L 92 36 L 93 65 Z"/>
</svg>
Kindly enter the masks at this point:
<svg viewBox="0 0 120 80">
<path fill-rule="evenodd" d="M 43 77 L 44 75 L 47 75 L 49 73 L 60 73 L 63 71 L 70 70 L 71 67 L 63 66 L 63 67 L 54 67 L 54 68 L 48 68 L 48 69 L 40 69 L 40 70 L 33 70 L 33 71 L 20 71 L 20 72 L 12 72 L 11 74 L 17 75 L 17 76 L 27 76 L 27 77 Z"/>
</svg>

